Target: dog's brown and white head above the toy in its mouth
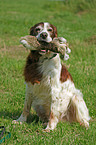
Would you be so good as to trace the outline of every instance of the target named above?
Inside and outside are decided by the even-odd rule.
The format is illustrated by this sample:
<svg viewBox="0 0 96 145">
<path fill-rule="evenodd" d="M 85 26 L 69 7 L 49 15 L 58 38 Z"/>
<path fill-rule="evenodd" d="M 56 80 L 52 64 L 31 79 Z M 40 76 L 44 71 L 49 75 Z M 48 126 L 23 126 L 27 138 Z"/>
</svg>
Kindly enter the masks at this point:
<svg viewBox="0 0 96 145">
<path fill-rule="evenodd" d="M 40 22 L 30 28 L 30 35 L 36 36 L 38 41 L 49 43 L 57 37 L 57 29 L 52 24 Z"/>
</svg>

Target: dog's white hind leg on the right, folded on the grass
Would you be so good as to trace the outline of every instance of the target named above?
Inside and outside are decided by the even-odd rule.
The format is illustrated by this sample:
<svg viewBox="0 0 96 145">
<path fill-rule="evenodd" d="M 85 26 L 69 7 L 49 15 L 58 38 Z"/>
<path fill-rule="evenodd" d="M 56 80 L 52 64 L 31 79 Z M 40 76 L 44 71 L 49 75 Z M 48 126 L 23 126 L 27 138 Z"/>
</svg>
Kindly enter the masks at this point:
<svg viewBox="0 0 96 145">
<path fill-rule="evenodd" d="M 75 90 L 74 96 L 70 101 L 69 109 L 67 112 L 67 119 L 72 122 L 79 122 L 80 125 L 89 127 L 89 111 L 83 100 L 83 95 L 79 90 Z"/>
</svg>

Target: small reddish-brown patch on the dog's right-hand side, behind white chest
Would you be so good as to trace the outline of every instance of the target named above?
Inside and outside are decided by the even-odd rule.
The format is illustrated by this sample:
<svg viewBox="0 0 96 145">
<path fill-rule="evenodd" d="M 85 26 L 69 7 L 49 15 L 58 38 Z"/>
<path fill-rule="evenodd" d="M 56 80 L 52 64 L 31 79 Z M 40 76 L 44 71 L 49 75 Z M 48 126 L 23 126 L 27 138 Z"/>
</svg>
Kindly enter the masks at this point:
<svg viewBox="0 0 96 145">
<path fill-rule="evenodd" d="M 60 81 L 63 83 L 65 81 L 67 81 L 68 79 L 73 82 L 71 74 L 68 72 L 66 67 L 64 65 L 62 65 Z"/>
</svg>

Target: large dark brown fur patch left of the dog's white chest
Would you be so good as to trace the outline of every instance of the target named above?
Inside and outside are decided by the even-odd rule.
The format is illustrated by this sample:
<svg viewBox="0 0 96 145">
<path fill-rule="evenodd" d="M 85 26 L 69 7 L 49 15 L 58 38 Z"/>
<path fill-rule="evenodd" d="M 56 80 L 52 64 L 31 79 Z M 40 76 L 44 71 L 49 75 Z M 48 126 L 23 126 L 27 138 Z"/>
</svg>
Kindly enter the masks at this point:
<svg viewBox="0 0 96 145">
<path fill-rule="evenodd" d="M 24 77 L 26 82 L 40 83 L 42 80 L 42 73 L 38 69 L 38 62 L 40 58 L 40 54 L 37 51 L 31 51 L 29 56 L 27 57 L 25 69 L 24 69 Z"/>
</svg>

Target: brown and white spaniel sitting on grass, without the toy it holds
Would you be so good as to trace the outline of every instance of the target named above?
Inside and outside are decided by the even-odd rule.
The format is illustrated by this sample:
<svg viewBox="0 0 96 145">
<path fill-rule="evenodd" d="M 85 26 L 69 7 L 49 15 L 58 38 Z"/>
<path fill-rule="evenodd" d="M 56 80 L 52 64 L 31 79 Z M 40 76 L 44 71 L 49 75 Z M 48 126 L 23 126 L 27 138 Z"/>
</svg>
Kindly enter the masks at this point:
<svg viewBox="0 0 96 145">
<path fill-rule="evenodd" d="M 49 43 L 57 37 L 57 29 L 49 23 L 30 28 L 30 35 Z M 31 106 L 44 122 L 46 131 L 56 128 L 59 121 L 79 122 L 89 127 L 89 112 L 80 90 L 75 88 L 71 74 L 61 64 L 58 53 L 30 51 L 24 68 L 26 95 L 24 110 L 16 121 L 27 121 Z"/>
</svg>

